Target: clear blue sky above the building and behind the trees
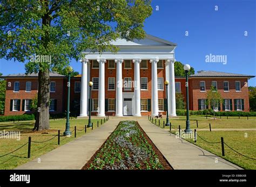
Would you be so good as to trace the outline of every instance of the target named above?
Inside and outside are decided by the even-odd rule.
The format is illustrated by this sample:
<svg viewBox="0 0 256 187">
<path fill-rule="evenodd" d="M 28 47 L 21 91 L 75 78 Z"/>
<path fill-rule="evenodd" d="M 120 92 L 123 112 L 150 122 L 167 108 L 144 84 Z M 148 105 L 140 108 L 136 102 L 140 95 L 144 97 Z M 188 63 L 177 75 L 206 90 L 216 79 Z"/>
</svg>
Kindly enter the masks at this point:
<svg viewBox="0 0 256 187">
<path fill-rule="evenodd" d="M 145 21 L 145 31 L 177 43 L 177 61 L 189 63 L 196 71 L 256 75 L 256 1 L 153 0 L 151 5 L 153 13 Z M 227 63 L 205 62 L 210 54 L 226 55 Z M 79 62 L 72 60 L 71 66 L 81 72 Z M 24 73 L 24 64 L 2 59 L 0 72 Z M 256 86 L 256 78 L 249 85 Z"/>
</svg>

